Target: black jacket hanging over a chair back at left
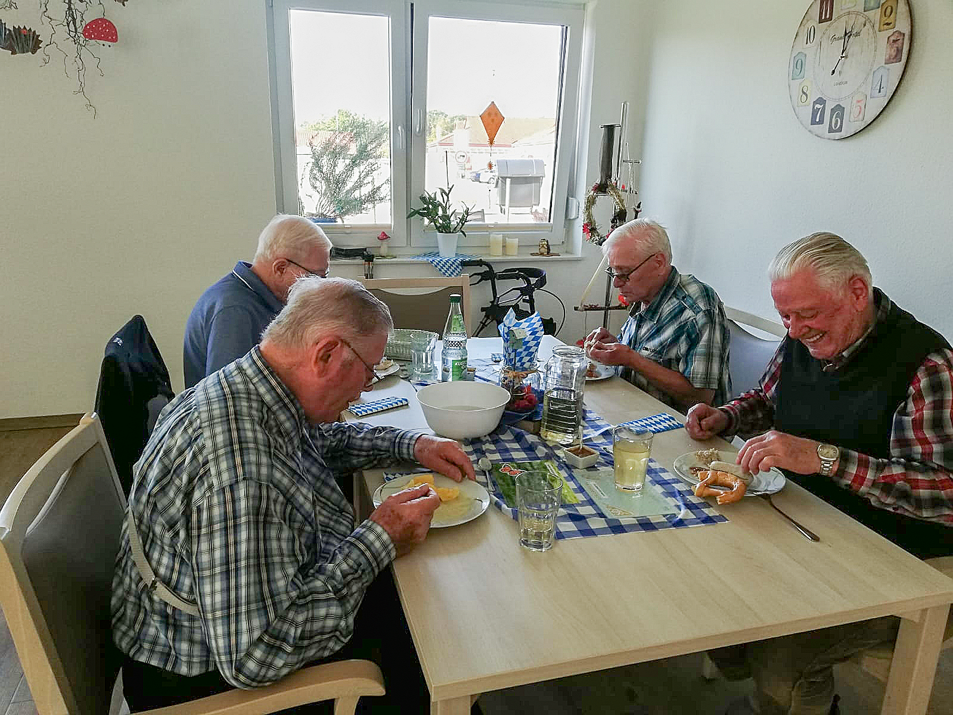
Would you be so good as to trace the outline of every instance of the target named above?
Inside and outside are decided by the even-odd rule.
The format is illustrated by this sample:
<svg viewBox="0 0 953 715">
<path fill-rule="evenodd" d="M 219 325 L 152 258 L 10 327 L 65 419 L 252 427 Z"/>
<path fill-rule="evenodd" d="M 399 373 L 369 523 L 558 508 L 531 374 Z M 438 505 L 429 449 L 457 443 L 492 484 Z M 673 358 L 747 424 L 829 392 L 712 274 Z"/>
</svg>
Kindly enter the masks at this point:
<svg viewBox="0 0 953 715">
<path fill-rule="evenodd" d="M 146 447 L 159 410 L 173 396 L 159 348 L 146 321 L 136 315 L 106 345 L 96 388 L 96 412 L 127 495 L 132 487 L 132 465 Z"/>
</svg>

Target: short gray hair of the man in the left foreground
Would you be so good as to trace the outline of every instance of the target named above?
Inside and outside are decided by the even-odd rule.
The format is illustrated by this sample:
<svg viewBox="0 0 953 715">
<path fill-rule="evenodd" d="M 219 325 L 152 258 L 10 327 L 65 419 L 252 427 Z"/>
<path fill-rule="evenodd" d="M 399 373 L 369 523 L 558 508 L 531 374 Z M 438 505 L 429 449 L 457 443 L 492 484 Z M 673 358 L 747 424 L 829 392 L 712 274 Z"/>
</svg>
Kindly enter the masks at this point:
<svg viewBox="0 0 953 715">
<path fill-rule="evenodd" d="M 391 311 L 357 281 L 304 276 L 261 335 L 282 348 L 304 349 L 325 335 L 361 338 L 394 329 Z"/>
</svg>

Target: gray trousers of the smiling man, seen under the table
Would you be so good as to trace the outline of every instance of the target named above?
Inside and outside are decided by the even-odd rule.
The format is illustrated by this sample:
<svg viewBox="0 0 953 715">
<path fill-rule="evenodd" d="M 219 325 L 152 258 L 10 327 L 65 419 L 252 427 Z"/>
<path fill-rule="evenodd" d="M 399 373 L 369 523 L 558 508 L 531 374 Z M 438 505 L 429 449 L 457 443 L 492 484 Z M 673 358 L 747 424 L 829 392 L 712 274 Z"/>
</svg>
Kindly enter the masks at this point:
<svg viewBox="0 0 953 715">
<path fill-rule="evenodd" d="M 834 669 L 856 653 L 894 642 L 900 619 L 884 616 L 708 651 L 727 680 L 755 679 L 761 715 L 828 715 Z"/>
</svg>

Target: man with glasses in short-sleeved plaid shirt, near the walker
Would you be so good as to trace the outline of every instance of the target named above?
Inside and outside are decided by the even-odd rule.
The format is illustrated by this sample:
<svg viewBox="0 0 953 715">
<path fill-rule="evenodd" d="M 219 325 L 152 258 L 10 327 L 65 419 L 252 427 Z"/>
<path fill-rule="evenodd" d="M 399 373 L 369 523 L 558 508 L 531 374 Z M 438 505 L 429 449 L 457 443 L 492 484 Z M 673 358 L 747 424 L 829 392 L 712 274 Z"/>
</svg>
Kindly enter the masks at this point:
<svg viewBox="0 0 953 715">
<path fill-rule="evenodd" d="M 731 377 L 718 293 L 672 265 L 668 234 L 655 221 L 616 228 L 602 253 L 613 286 L 632 308 L 618 337 L 605 328 L 589 334 L 589 357 L 618 366 L 620 377 L 682 411 L 721 405 L 731 396 Z"/>
</svg>

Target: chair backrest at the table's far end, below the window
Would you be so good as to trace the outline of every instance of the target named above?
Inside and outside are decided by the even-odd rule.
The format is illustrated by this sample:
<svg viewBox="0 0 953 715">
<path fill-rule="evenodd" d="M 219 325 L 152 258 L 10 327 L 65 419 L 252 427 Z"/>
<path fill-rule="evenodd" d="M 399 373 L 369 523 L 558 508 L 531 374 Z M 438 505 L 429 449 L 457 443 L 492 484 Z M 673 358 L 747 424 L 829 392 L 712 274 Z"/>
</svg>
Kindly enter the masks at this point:
<svg viewBox="0 0 953 715">
<path fill-rule="evenodd" d="M 462 297 L 463 322 L 473 334 L 470 317 L 470 275 L 454 278 L 369 278 L 361 283 L 391 308 L 395 328 L 418 328 L 443 334 L 443 324 L 450 312 L 450 295 Z"/>
</svg>

